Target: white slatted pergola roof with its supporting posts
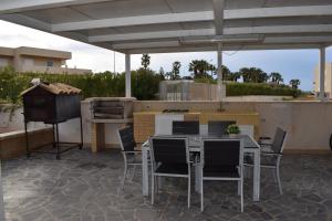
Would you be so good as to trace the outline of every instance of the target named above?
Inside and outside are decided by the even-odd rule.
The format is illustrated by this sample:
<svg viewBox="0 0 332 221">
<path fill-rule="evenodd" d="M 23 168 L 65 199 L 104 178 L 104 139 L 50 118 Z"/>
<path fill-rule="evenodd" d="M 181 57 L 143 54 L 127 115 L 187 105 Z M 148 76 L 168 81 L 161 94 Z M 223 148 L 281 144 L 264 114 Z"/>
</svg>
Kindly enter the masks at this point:
<svg viewBox="0 0 332 221">
<path fill-rule="evenodd" d="M 217 51 L 221 85 L 222 51 L 279 49 L 320 50 L 324 95 L 331 0 L 2 0 L 0 19 L 126 54 L 126 96 L 131 54 Z"/>
</svg>

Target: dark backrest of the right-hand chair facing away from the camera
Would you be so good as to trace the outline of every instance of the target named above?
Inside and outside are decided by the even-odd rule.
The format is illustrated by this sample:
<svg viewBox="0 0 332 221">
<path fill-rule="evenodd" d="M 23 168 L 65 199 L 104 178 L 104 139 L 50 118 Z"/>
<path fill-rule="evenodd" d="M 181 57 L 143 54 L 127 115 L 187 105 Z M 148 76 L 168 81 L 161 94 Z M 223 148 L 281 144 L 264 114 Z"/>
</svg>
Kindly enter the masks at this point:
<svg viewBox="0 0 332 221">
<path fill-rule="evenodd" d="M 201 150 L 204 167 L 237 167 L 242 165 L 243 154 L 240 139 L 205 139 Z"/>
</svg>

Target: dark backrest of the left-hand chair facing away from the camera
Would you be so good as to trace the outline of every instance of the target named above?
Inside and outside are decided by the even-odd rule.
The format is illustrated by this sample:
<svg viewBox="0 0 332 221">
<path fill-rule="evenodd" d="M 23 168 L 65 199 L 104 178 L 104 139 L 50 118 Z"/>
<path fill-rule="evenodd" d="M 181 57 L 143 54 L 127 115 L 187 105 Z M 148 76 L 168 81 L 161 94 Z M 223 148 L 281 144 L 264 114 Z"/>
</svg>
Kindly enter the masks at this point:
<svg viewBox="0 0 332 221">
<path fill-rule="evenodd" d="M 187 138 L 151 137 L 151 156 L 154 165 L 189 164 Z"/>
</svg>

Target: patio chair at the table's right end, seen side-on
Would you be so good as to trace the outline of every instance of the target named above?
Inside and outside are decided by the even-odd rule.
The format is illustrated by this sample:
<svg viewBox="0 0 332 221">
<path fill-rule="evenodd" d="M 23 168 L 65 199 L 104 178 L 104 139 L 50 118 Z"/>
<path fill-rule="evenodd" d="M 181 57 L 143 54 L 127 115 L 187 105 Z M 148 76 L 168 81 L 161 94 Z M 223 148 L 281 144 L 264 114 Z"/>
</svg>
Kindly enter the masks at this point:
<svg viewBox="0 0 332 221">
<path fill-rule="evenodd" d="M 280 162 L 286 144 L 287 131 L 277 127 L 273 140 L 270 137 L 261 137 L 259 145 L 261 146 L 261 168 L 272 169 L 274 180 L 278 183 L 280 194 L 282 194 L 282 186 L 280 180 Z M 246 157 L 245 166 L 253 167 L 251 157 Z"/>
</svg>

